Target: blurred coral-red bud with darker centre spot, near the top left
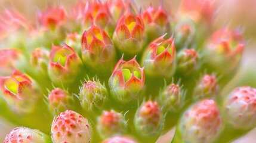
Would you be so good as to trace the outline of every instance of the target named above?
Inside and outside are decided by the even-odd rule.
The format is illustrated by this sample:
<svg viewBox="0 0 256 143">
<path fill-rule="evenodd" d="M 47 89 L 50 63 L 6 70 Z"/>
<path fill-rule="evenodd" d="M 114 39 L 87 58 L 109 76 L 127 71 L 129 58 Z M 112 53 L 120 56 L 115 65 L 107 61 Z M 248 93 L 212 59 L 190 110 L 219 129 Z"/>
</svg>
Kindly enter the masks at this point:
<svg viewBox="0 0 256 143">
<path fill-rule="evenodd" d="M 64 13 L 63 8 L 48 8 L 48 10 L 41 11 L 37 15 L 39 24 L 44 29 L 55 28 L 56 26 L 63 23 L 66 15 Z"/>
</svg>

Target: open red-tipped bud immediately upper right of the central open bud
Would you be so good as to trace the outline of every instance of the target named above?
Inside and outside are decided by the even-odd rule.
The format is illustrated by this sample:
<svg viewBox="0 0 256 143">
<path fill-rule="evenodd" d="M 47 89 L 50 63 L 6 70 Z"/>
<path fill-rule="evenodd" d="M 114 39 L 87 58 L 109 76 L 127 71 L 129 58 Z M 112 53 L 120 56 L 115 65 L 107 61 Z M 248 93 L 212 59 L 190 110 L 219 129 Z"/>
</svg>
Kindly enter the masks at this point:
<svg viewBox="0 0 256 143">
<path fill-rule="evenodd" d="M 171 77 L 175 71 L 175 46 L 172 38 L 164 36 L 155 39 L 146 48 L 142 58 L 145 74 L 149 76 Z"/>
</svg>

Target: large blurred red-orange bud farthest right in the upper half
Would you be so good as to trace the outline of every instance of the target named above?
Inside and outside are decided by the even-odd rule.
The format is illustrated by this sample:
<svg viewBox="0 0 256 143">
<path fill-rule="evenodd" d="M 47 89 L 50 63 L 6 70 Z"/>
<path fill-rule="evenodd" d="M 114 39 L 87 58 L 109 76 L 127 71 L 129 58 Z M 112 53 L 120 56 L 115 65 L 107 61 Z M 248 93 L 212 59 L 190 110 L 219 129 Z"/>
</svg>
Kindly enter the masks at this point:
<svg viewBox="0 0 256 143">
<path fill-rule="evenodd" d="M 239 30 L 220 29 L 209 39 L 205 57 L 215 70 L 229 73 L 238 66 L 244 46 L 245 42 Z"/>
</svg>

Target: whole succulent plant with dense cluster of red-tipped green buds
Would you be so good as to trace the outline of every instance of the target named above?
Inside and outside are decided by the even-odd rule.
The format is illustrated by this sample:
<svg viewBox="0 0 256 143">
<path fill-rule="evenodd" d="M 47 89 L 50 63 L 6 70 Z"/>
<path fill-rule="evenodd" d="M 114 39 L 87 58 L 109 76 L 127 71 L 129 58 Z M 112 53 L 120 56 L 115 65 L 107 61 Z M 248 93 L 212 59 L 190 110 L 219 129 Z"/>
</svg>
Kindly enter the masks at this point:
<svg viewBox="0 0 256 143">
<path fill-rule="evenodd" d="M 214 25 L 216 2 L 159 3 L 0 13 L 0 118 L 17 126 L 4 142 L 156 142 L 174 127 L 172 142 L 230 142 L 254 128 L 256 89 L 223 95 L 242 31 Z"/>
</svg>

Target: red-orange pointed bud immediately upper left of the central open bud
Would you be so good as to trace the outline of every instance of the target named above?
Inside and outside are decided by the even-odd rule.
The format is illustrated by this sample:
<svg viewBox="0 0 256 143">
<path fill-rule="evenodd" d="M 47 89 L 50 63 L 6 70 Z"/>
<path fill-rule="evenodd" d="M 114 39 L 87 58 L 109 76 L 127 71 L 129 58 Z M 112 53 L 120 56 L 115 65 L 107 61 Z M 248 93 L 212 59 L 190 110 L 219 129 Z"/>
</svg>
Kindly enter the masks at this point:
<svg viewBox="0 0 256 143">
<path fill-rule="evenodd" d="M 82 58 L 84 63 L 94 67 L 106 66 L 115 59 L 115 48 L 107 33 L 94 25 L 82 36 Z M 98 67 L 97 67 L 98 68 Z"/>
</svg>

